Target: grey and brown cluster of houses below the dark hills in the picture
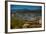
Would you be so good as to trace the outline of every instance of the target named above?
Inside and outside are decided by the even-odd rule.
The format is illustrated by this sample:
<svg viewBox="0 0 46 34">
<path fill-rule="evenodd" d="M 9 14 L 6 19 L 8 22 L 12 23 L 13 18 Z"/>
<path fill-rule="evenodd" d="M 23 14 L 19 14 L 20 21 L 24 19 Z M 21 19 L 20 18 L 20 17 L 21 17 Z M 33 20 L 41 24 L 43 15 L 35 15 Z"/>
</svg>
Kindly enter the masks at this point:
<svg viewBox="0 0 46 34">
<path fill-rule="evenodd" d="M 18 20 L 24 20 L 25 24 L 23 24 L 23 28 L 26 27 L 41 27 L 42 24 L 42 16 L 40 12 L 16 12 L 13 13 L 12 16 L 16 16 Z"/>
</svg>

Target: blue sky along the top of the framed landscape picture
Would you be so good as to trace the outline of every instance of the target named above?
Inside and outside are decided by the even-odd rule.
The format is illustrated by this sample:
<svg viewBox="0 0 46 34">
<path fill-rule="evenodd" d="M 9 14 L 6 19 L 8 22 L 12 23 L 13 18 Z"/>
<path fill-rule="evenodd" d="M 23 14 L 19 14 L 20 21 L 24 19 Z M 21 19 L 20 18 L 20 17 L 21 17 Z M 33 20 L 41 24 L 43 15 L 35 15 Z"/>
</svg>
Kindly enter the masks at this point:
<svg viewBox="0 0 46 34">
<path fill-rule="evenodd" d="M 39 10 L 41 6 L 11 5 L 12 11 L 16 11 L 17 9 Z"/>
</svg>

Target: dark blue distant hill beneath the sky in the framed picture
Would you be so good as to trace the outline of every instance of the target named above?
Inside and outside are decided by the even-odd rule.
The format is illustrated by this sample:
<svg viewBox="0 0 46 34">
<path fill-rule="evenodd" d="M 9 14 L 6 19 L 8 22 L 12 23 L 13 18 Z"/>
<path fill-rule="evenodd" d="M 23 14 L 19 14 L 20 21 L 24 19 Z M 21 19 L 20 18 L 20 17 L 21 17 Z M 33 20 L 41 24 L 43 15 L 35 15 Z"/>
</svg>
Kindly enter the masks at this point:
<svg viewBox="0 0 46 34">
<path fill-rule="evenodd" d="M 39 10 L 28 10 L 28 9 L 17 9 L 16 11 L 11 11 L 12 13 L 39 13 L 41 14 L 41 9 Z"/>
</svg>

